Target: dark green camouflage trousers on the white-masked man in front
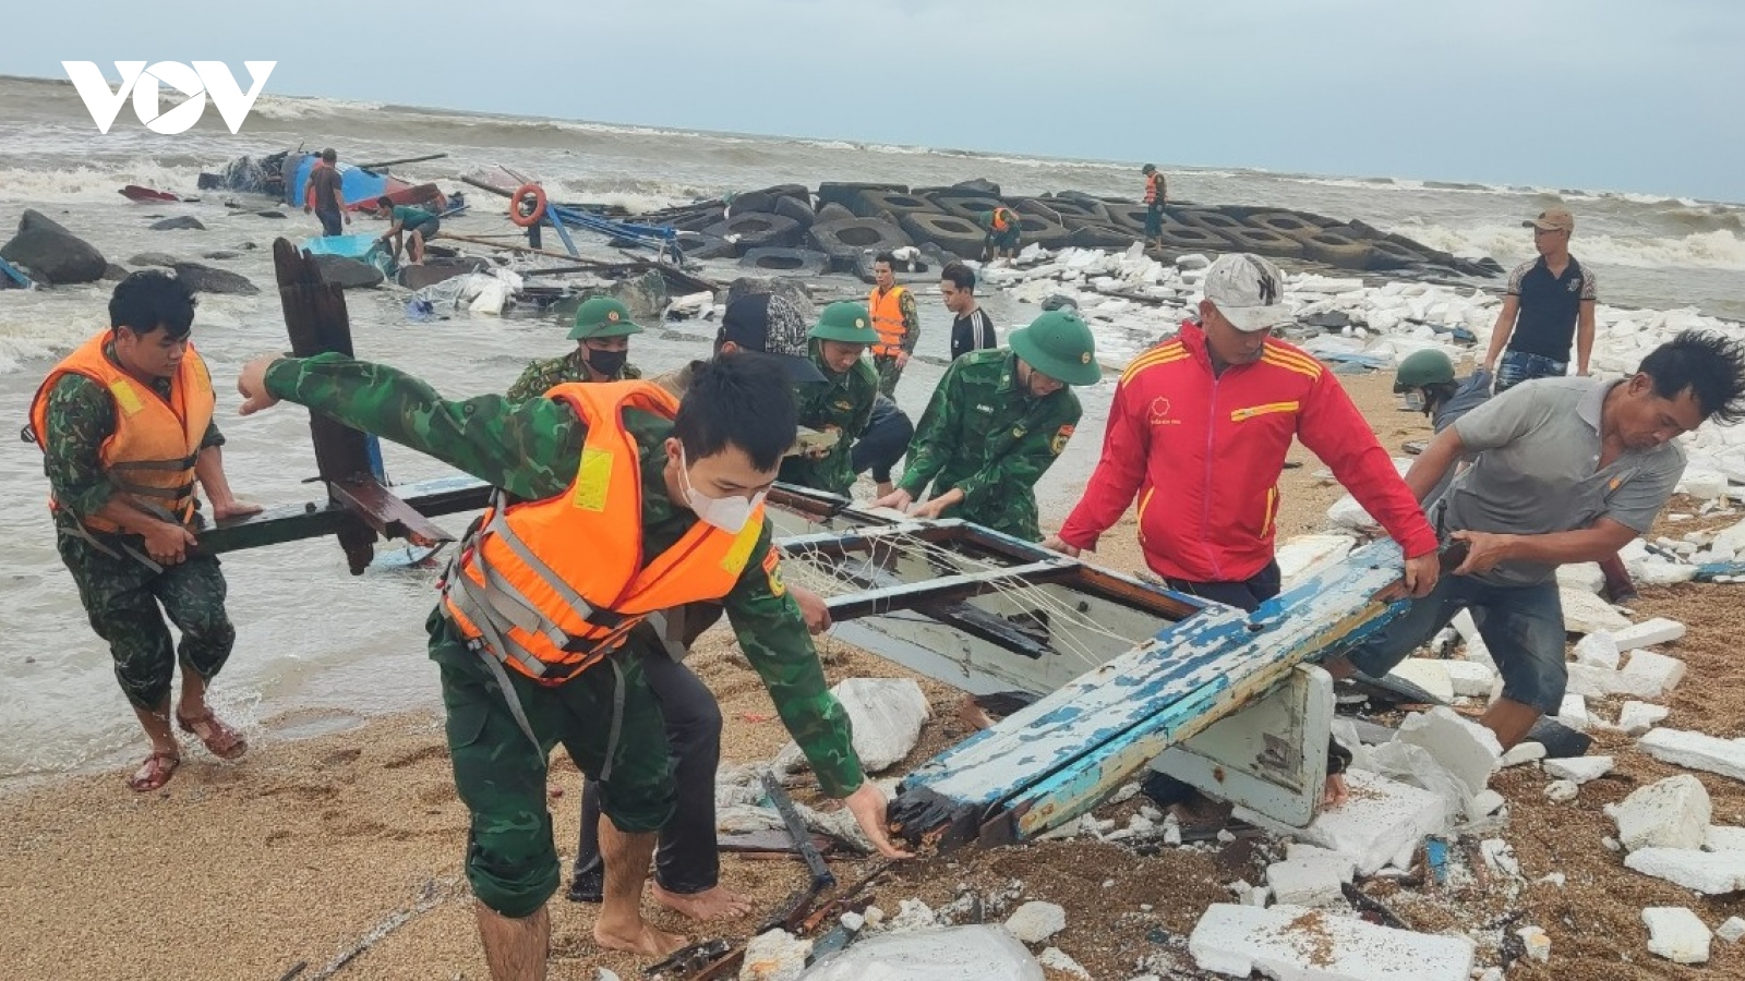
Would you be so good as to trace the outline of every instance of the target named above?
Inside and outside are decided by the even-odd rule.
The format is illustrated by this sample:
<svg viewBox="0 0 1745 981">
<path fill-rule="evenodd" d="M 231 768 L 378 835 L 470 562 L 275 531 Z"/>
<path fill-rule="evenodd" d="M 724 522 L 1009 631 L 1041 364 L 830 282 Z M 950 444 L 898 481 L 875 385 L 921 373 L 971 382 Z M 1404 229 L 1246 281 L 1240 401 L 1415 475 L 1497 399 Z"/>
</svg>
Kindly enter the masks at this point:
<svg viewBox="0 0 1745 981">
<path fill-rule="evenodd" d="M 600 782 L 600 810 L 614 827 L 633 834 L 667 824 L 675 799 L 667 724 L 637 653 L 619 649 L 558 686 L 504 667 L 536 747 L 510 710 L 497 674 L 441 607 L 426 628 L 429 656 L 441 669 L 454 785 L 471 812 L 466 878 L 480 902 L 520 918 L 557 892 L 562 869 L 546 806 L 546 759 L 560 744 Z"/>
</svg>

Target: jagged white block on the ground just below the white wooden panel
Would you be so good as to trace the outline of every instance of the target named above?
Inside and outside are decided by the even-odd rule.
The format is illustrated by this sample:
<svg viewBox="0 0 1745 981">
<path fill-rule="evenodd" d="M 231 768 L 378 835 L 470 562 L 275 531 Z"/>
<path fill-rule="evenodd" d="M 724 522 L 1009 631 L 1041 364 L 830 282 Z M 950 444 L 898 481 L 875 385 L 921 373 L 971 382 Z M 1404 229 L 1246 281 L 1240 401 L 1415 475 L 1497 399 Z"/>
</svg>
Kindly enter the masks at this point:
<svg viewBox="0 0 1745 981">
<path fill-rule="evenodd" d="M 1234 817 L 1274 834 L 1344 852 L 1356 859 L 1363 875 L 1375 875 L 1394 859 L 1399 866 L 1410 864 L 1424 836 L 1443 831 L 1443 801 L 1431 791 L 1365 770 L 1349 770 L 1345 784 L 1351 789 L 1345 803 L 1323 808 L 1309 827 L 1291 827 L 1242 806 Z"/>
</svg>

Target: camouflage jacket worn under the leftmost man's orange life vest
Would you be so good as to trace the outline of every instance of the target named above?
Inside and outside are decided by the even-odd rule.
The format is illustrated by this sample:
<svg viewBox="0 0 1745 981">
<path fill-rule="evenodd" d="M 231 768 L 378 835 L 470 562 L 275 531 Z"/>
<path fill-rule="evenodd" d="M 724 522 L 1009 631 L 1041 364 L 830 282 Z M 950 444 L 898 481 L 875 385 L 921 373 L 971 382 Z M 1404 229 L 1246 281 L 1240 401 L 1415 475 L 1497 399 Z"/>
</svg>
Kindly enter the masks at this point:
<svg viewBox="0 0 1745 981">
<path fill-rule="evenodd" d="M 169 398 L 169 379 L 152 388 Z M 115 400 L 84 375 L 61 375 L 49 391 L 49 431 L 42 433 L 42 471 L 49 492 L 61 506 L 58 522 L 91 517 L 115 496 L 115 484 L 103 470 L 103 442 L 115 435 Z M 222 447 L 218 422 L 206 424 L 201 449 Z"/>
</svg>

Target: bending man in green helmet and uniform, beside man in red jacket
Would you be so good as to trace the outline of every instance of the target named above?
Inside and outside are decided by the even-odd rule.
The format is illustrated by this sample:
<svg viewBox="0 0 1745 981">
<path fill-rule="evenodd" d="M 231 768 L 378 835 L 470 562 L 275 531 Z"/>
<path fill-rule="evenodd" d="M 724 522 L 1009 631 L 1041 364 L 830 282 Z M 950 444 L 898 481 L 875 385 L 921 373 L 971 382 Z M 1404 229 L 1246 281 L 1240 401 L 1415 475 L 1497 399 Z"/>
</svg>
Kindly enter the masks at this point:
<svg viewBox="0 0 1745 981">
<path fill-rule="evenodd" d="M 1040 541 L 1037 480 L 1078 424 L 1078 396 L 1096 384 L 1091 328 L 1078 311 L 1049 311 L 1014 330 L 1009 351 L 965 354 L 946 368 L 909 445 L 897 489 L 874 501 L 927 518 L 963 518 Z M 934 485 L 934 496 L 911 504 Z"/>
</svg>

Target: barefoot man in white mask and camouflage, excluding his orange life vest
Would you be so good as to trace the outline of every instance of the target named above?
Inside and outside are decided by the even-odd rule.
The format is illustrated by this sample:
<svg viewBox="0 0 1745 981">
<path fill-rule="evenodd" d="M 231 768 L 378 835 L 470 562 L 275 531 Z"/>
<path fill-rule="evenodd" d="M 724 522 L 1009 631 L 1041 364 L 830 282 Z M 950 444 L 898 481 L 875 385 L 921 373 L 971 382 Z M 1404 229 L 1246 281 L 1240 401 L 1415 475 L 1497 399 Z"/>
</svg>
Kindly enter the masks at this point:
<svg viewBox="0 0 1745 981">
<path fill-rule="evenodd" d="M 496 394 L 450 401 L 421 379 L 342 354 L 260 358 L 244 367 L 237 388 L 246 396 L 244 414 L 281 398 L 298 401 L 435 456 L 529 503 L 569 492 L 588 436 L 567 401 L 517 403 Z M 705 452 L 707 443 L 696 436 L 695 457 L 686 450 L 693 438 L 674 435 L 688 426 L 717 424 L 726 442 Z M 663 555 L 686 536 L 701 510 L 750 506 L 775 480 L 775 463 L 761 470 L 759 454 L 773 443 L 790 445 L 796 429 L 780 370 L 740 358 L 700 372 L 677 419 L 630 408 L 623 412 L 623 426 L 640 452 L 640 513 L 626 513 L 623 520 L 640 527 L 644 560 Z M 750 550 L 754 559 L 722 597 L 740 648 L 824 791 L 846 798 L 848 810 L 881 852 L 900 855 L 883 827 L 885 796 L 862 775 L 848 717 L 825 688 L 770 539 L 764 520 Z M 637 630 L 653 627 L 642 621 Z M 429 656 L 441 669 L 455 787 L 471 810 L 466 873 L 478 899 L 475 911 L 492 978 L 546 976 L 546 899 L 557 890 L 560 873 L 546 808 L 546 758 L 560 742 L 585 773 L 602 779 L 602 806 L 611 817 L 600 826 L 607 875 L 595 941 L 644 957 L 682 946 L 684 937 L 656 930 L 640 913 L 654 836 L 674 810 L 672 761 L 642 658 L 618 648 L 604 662 L 548 686 L 499 669 L 489 649 L 466 641 L 445 606 L 431 613 L 428 630 Z M 520 705 L 525 723 L 511 705 Z"/>
</svg>

